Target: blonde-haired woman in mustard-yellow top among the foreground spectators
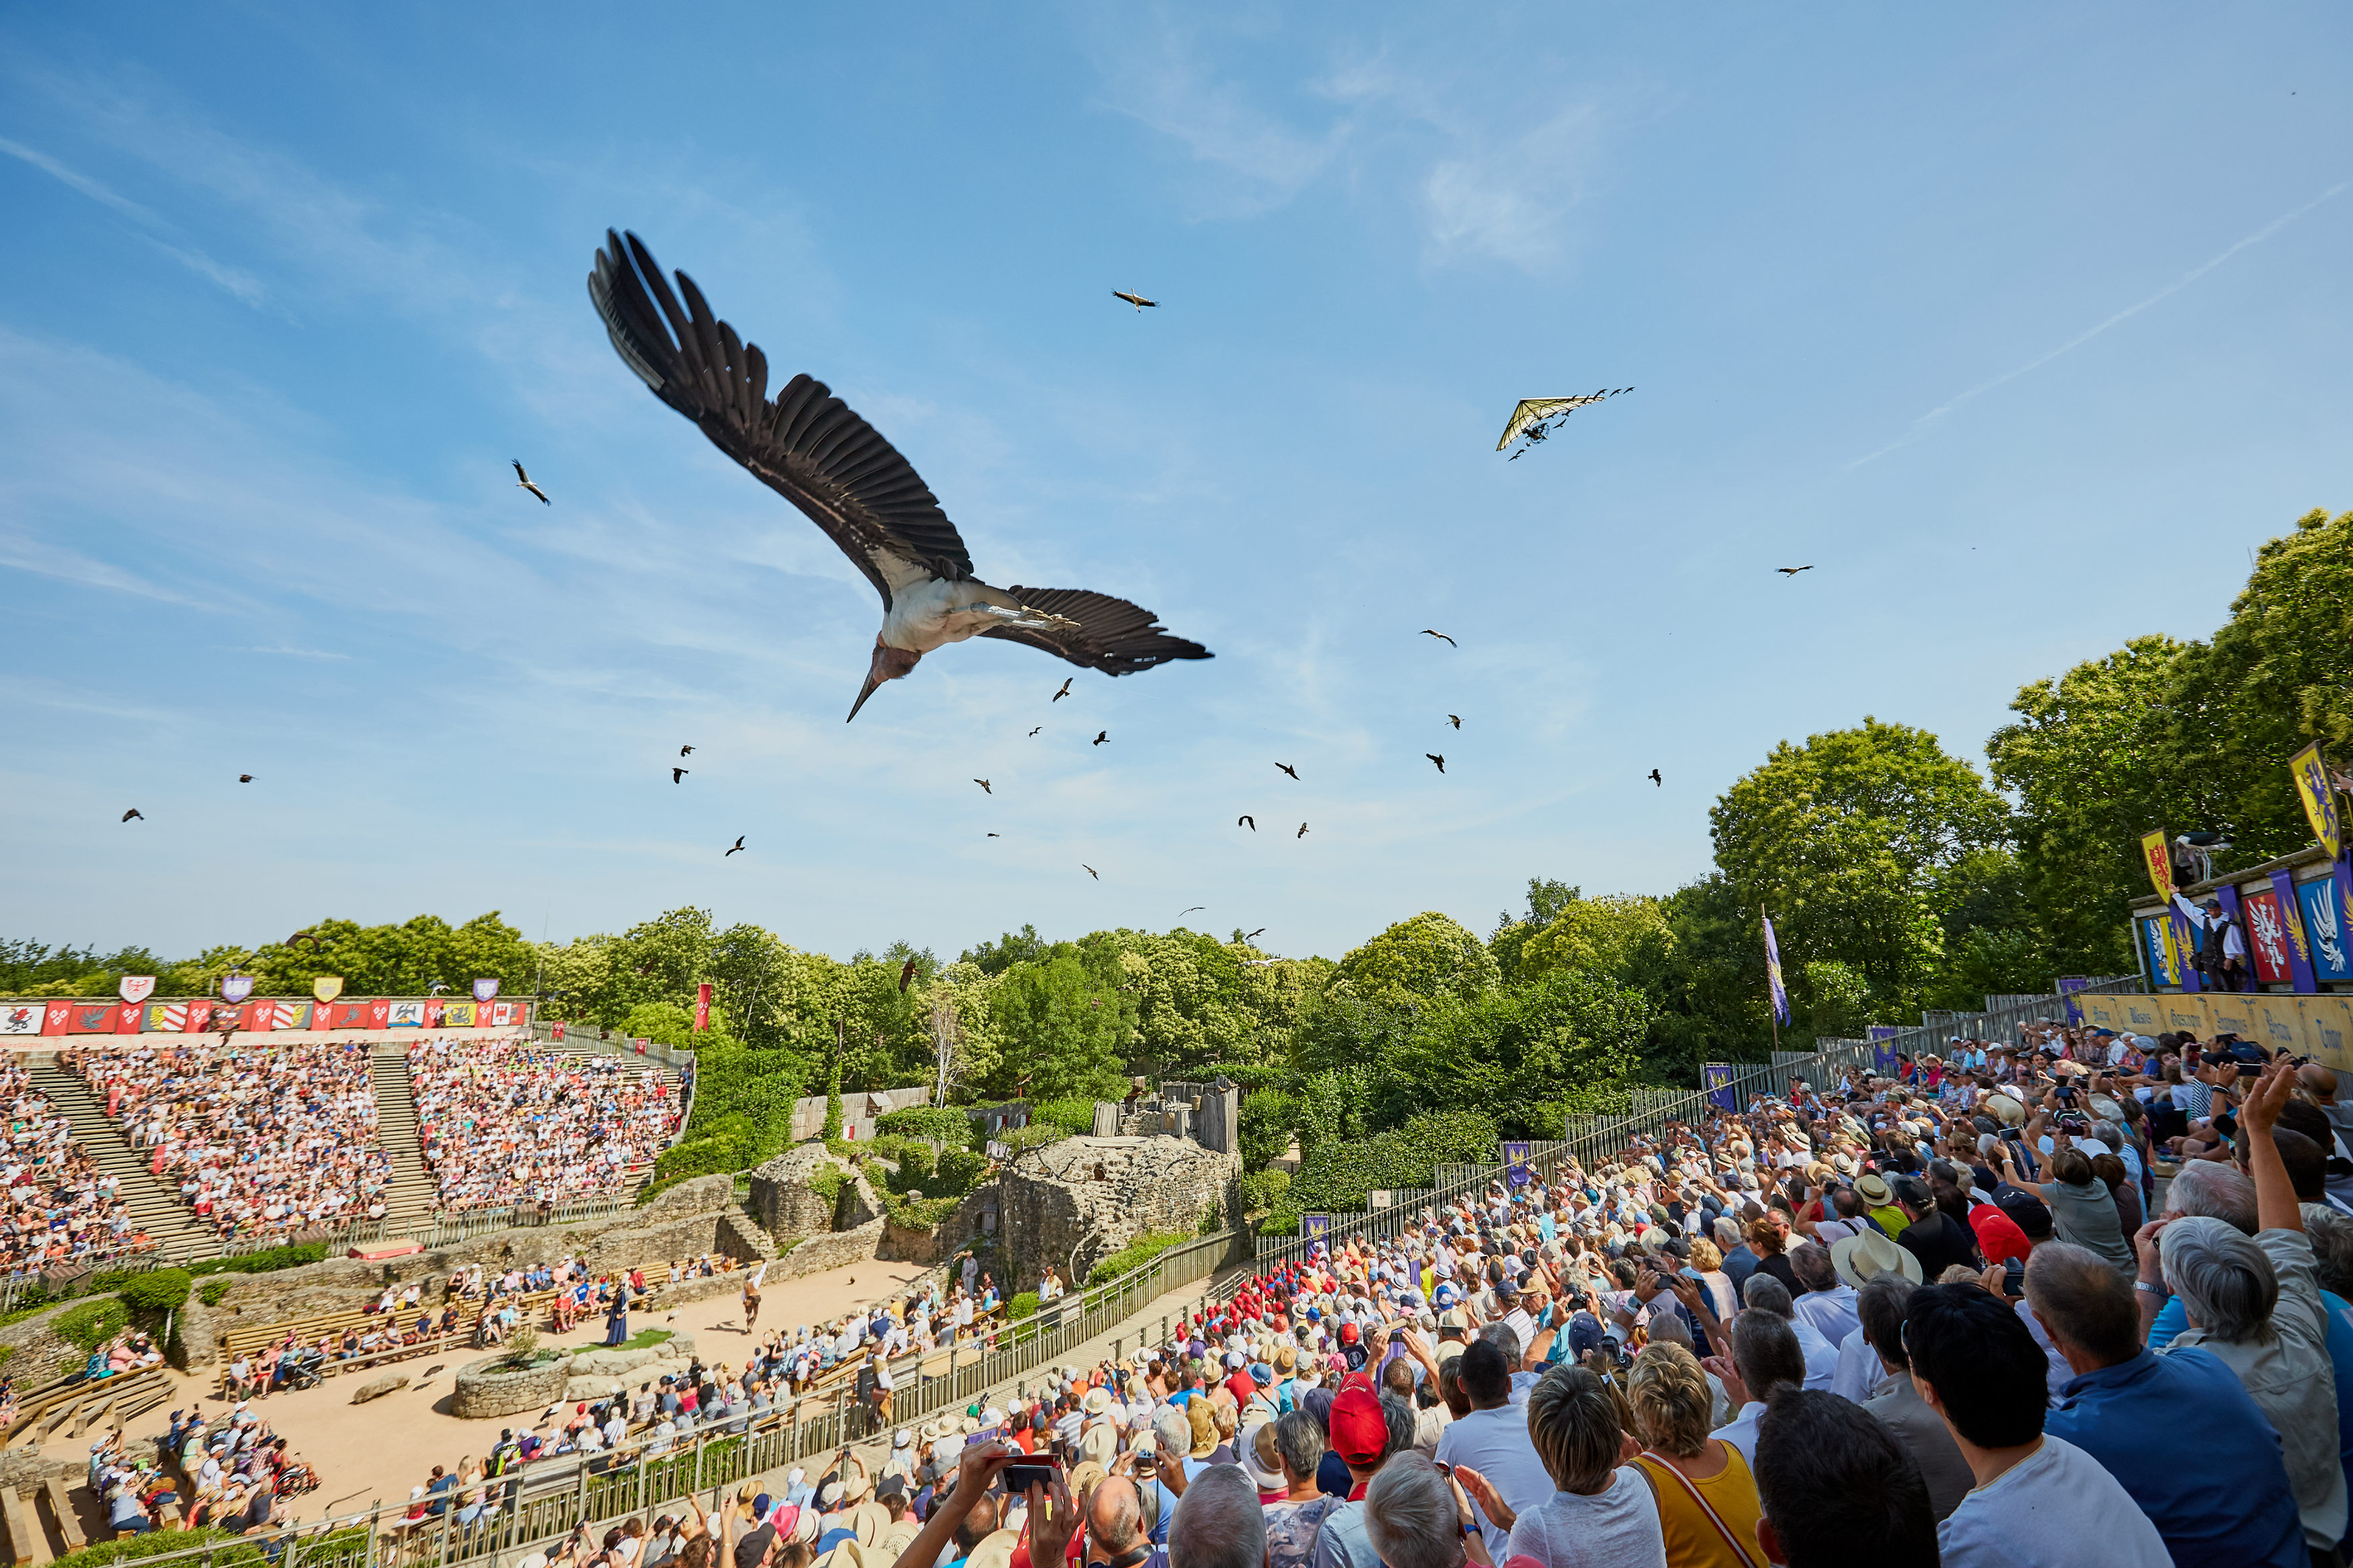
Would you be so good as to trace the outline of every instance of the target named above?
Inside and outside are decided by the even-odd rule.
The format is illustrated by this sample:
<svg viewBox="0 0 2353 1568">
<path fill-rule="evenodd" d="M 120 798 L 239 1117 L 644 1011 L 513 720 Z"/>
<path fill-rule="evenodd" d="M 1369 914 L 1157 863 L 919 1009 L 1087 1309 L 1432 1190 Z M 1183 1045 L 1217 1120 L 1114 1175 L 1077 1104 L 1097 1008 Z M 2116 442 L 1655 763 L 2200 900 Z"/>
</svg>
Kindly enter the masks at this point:
<svg viewBox="0 0 2353 1568">
<path fill-rule="evenodd" d="M 1673 1340 L 1652 1340 L 1626 1378 L 1635 1469 L 1659 1497 L 1666 1561 L 1675 1568 L 1765 1568 L 1755 1476 L 1739 1448 L 1708 1436 L 1708 1375 Z"/>
</svg>

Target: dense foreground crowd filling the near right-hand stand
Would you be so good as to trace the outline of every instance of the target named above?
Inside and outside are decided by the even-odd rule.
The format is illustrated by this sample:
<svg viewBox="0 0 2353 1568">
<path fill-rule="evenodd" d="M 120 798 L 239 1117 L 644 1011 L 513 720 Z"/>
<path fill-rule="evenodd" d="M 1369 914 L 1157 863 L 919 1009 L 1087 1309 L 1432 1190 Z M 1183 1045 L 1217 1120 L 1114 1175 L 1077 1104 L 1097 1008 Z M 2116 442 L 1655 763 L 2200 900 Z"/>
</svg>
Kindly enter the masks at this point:
<svg viewBox="0 0 2353 1568">
<path fill-rule="evenodd" d="M 2341 1563 L 2346 1124 L 2228 1037 L 1793 1084 L 894 1434 L 896 1568 Z M 736 1568 L 859 1530 L 802 1507 Z"/>
</svg>

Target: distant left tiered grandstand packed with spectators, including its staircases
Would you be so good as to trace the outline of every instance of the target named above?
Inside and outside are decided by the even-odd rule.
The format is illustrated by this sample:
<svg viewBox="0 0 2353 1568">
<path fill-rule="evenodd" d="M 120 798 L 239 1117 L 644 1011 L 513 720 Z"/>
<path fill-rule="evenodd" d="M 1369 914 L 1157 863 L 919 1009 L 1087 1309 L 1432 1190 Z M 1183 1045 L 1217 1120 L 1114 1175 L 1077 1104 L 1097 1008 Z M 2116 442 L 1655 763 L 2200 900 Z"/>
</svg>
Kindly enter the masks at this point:
<svg viewBox="0 0 2353 1568">
<path fill-rule="evenodd" d="M 78 1037 L 0 1058 L 0 1276 L 621 1201 L 685 1100 L 593 1044 Z"/>
</svg>

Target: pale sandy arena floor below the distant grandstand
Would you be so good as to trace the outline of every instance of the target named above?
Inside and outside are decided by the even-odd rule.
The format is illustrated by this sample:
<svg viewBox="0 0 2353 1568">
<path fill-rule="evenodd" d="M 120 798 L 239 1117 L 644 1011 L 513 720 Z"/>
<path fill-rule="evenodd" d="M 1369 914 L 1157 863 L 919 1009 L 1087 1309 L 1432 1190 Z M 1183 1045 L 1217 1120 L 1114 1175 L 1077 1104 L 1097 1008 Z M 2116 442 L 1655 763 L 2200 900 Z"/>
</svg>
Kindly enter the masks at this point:
<svg viewBox="0 0 2353 1568">
<path fill-rule="evenodd" d="M 795 1328 L 833 1319 L 892 1295 L 922 1274 L 925 1269 L 913 1262 L 864 1260 L 826 1274 L 769 1284 L 760 1293 L 760 1328 Z M 631 1333 L 640 1328 L 692 1333 L 706 1363 L 725 1361 L 727 1366 L 744 1366 L 751 1340 L 744 1331 L 744 1305 L 734 1291 L 678 1307 L 675 1321 L 661 1309 L 631 1314 L 628 1328 Z M 595 1316 L 567 1335 L 544 1333 L 541 1342 L 567 1349 L 602 1345 L 605 1319 Z M 322 1486 L 299 1500 L 296 1514 L 301 1519 L 318 1519 L 327 1509 L 348 1514 L 379 1497 L 386 1505 L 407 1502 L 409 1488 L 421 1486 L 435 1465 L 454 1469 L 466 1455 L 487 1455 L 499 1441 L 501 1427 L 529 1425 L 539 1415 L 536 1410 L 499 1420 L 449 1415 L 452 1375 L 461 1361 L 471 1359 L 475 1359 L 473 1352 L 459 1352 L 440 1363 L 431 1380 L 424 1373 L 438 1366 L 433 1359 L 398 1361 L 386 1371 L 407 1373 L 412 1387 L 365 1406 L 351 1403 L 353 1389 L 384 1373 L 346 1373 L 315 1389 L 271 1394 L 256 1401 L 256 1413 L 275 1427 L 278 1436 L 287 1439 L 287 1448 L 318 1465 Z M 202 1382 L 179 1375 L 172 1401 L 165 1410 L 141 1420 L 141 1429 L 162 1432 L 165 1413 L 193 1401 L 202 1401 L 207 1418 L 219 1420 L 228 1413 L 219 1387 L 219 1375 Z"/>
</svg>

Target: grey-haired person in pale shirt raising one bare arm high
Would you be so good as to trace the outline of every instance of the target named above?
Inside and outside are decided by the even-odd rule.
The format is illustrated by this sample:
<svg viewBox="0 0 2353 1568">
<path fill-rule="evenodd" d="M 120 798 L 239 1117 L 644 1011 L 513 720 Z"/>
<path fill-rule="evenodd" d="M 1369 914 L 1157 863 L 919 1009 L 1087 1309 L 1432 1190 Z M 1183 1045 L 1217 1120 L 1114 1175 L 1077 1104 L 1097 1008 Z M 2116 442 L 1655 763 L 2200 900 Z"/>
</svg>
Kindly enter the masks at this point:
<svg viewBox="0 0 2353 1568">
<path fill-rule="evenodd" d="M 2327 1307 L 2304 1234 L 2304 1211 L 2287 1164 L 2271 1138 L 2294 1072 L 2271 1067 L 2240 1107 L 2247 1133 L 2247 1173 L 2261 1229 L 2249 1239 L 2209 1215 L 2184 1215 L 2144 1227 L 2141 1331 L 2158 1316 L 2158 1300 L 2179 1295 L 2188 1328 L 2160 1354 L 2205 1349 L 2238 1373 L 2254 1403 L 2280 1434 L 2287 1481 L 2297 1493 L 2304 1542 L 2334 1552 L 2346 1533 L 2346 1472 L 2339 1458 L 2337 1373 L 2327 1349 Z"/>
</svg>

